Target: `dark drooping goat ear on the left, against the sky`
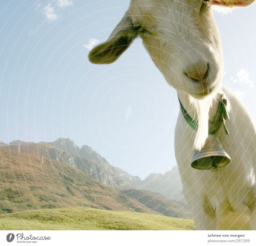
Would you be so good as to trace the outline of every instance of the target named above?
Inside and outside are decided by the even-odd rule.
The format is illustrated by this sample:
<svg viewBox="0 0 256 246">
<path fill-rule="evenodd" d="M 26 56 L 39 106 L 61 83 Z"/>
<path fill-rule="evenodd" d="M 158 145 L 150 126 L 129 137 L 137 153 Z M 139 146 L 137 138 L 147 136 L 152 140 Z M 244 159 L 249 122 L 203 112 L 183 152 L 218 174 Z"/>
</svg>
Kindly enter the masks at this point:
<svg viewBox="0 0 256 246">
<path fill-rule="evenodd" d="M 116 61 L 137 36 L 133 27 L 130 11 L 126 11 L 122 20 L 110 34 L 108 40 L 94 47 L 88 57 L 94 64 L 109 64 Z"/>
</svg>

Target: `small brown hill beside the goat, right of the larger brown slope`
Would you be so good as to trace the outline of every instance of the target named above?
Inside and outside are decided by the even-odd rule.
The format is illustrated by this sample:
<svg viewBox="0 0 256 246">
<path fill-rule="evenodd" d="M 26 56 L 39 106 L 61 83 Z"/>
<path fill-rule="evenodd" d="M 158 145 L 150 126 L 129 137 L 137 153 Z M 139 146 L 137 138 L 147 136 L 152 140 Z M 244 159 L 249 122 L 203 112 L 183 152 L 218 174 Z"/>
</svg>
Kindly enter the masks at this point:
<svg viewBox="0 0 256 246">
<path fill-rule="evenodd" d="M 162 215 L 174 218 L 193 218 L 189 207 L 159 193 L 136 189 L 124 190 L 122 193 Z"/>
</svg>

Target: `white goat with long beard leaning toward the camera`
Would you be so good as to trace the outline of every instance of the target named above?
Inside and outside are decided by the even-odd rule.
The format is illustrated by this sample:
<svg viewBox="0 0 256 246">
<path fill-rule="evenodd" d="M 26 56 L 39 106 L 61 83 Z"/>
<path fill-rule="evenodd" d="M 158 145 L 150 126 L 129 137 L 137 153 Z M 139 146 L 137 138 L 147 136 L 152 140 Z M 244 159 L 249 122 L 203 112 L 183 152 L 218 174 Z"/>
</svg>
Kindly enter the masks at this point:
<svg viewBox="0 0 256 246">
<path fill-rule="evenodd" d="M 221 86 L 221 41 L 212 15 L 213 4 L 232 7 L 253 2 L 131 0 L 108 40 L 89 54 L 92 63 L 112 63 L 140 36 L 186 111 L 198 121 L 195 133 L 180 112 L 175 130 L 176 159 L 197 230 L 256 230 L 255 127 L 243 103 Z M 221 93 L 228 98 L 230 135 L 223 131 L 220 142 L 231 162 L 216 172 L 193 169 L 193 149 L 204 146 L 208 120 L 216 114 Z"/>
</svg>

